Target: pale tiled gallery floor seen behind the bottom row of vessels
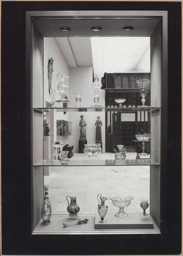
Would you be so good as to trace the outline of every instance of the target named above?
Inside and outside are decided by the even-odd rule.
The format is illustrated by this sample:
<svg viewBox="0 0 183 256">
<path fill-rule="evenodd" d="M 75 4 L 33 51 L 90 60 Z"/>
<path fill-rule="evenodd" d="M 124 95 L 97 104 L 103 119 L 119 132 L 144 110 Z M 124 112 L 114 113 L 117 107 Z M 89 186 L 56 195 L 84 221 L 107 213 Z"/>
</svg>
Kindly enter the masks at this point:
<svg viewBox="0 0 183 256">
<path fill-rule="evenodd" d="M 136 153 L 127 155 L 128 158 L 136 158 Z M 149 202 L 149 170 L 149 166 L 50 167 L 50 175 L 44 177 L 44 182 L 49 187 L 52 214 L 67 214 L 65 197 L 68 195 L 77 197 L 80 214 L 95 214 L 99 193 L 107 198 L 115 195 L 133 196 L 126 212 L 142 212 L 141 199 L 146 198 Z M 108 212 L 118 212 L 119 209 L 110 199 L 105 202 L 109 206 Z"/>
</svg>

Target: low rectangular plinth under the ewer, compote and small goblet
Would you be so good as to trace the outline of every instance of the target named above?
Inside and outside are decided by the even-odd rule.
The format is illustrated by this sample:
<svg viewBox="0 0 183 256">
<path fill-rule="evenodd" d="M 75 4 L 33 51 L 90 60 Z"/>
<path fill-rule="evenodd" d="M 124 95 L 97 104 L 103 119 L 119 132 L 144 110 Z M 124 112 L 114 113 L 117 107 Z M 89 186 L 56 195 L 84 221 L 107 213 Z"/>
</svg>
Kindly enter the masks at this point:
<svg viewBox="0 0 183 256">
<path fill-rule="evenodd" d="M 95 214 L 95 228 L 105 229 L 105 228 L 122 228 L 122 229 L 136 229 L 136 228 L 154 228 L 152 220 L 143 221 L 139 213 L 128 212 L 128 217 L 120 218 L 115 217 L 114 213 L 107 213 L 104 220 L 105 223 L 99 223 L 98 213 Z"/>
</svg>

